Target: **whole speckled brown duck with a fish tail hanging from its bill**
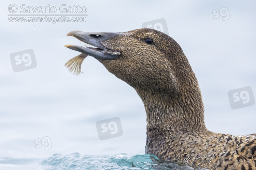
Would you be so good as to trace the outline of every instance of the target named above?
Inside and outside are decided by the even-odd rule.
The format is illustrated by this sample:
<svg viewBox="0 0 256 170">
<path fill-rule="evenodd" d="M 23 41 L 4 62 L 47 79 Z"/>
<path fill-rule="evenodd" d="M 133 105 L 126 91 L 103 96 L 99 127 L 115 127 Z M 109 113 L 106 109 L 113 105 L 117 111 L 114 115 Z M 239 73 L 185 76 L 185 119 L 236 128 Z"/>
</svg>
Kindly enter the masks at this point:
<svg viewBox="0 0 256 170">
<path fill-rule="evenodd" d="M 66 47 L 81 52 L 66 63 L 80 73 L 93 56 L 141 97 L 147 117 L 145 153 L 211 170 L 256 170 L 256 134 L 213 133 L 204 124 L 197 78 L 179 44 L 153 29 L 124 33 L 71 31 L 96 48 Z"/>
</svg>

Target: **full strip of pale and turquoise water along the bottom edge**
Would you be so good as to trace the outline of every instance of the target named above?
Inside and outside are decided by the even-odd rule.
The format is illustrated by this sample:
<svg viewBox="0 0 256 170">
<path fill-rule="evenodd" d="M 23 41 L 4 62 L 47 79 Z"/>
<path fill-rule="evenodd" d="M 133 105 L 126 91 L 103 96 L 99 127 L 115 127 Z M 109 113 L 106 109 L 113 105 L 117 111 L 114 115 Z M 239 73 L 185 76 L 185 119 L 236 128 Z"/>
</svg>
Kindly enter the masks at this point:
<svg viewBox="0 0 256 170">
<path fill-rule="evenodd" d="M 187 165 L 173 162 L 162 162 L 151 154 L 130 156 L 120 154 L 115 156 L 69 155 L 54 154 L 46 159 L 13 159 L 1 158 L 0 170 L 136 170 L 136 169 L 171 169 L 194 170 Z M 195 168 L 198 169 L 198 168 Z"/>
</svg>

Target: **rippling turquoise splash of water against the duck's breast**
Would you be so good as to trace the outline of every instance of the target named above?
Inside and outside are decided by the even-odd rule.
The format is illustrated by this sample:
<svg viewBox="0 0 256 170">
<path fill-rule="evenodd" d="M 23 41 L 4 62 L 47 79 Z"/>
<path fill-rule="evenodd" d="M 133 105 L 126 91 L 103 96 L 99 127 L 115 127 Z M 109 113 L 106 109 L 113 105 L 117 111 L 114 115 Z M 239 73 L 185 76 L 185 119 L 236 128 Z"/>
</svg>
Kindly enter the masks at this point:
<svg viewBox="0 0 256 170">
<path fill-rule="evenodd" d="M 116 156 L 94 156 L 73 153 L 68 156 L 54 154 L 52 157 L 41 162 L 42 165 L 50 166 L 50 169 L 106 169 L 106 170 L 135 170 L 135 169 L 170 169 L 170 170 L 194 170 L 185 164 L 163 162 L 152 154 L 129 156 L 127 154 Z M 196 168 L 197 169 L 197 168 Z"/>
</svg>

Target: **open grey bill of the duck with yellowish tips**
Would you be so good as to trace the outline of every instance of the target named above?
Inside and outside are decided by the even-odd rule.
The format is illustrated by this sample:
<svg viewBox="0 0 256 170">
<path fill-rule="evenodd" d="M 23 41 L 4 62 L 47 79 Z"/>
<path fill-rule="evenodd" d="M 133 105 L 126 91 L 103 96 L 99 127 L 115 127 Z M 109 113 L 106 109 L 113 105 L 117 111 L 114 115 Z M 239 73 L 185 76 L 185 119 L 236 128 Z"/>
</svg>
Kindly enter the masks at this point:
<svg viewBox="0 0 256 170">
<path fill-rule="evenodd" d="M 79 51 L 81 53 L 93 56 L 96 59 L 115 60 L 121 55 L 121 53 L 119 51 L 113 51 L 113 50 L 107 49 L 101 43 L 111 37 L 126 35 L 126 34 L 127 33 L 118 33 L 118 32 L 109 33 L 109 32 L 71 31 L 67 34 L 67 36 L 73 36 L 83 41 L 84 43 L 87 43 L 96 48 L 91 48 L 91 47 L 86 48 L 86 47 L 76 46 L 76 45 L 65 45 L 65 47 L 71 50 Z"/>
</svg>

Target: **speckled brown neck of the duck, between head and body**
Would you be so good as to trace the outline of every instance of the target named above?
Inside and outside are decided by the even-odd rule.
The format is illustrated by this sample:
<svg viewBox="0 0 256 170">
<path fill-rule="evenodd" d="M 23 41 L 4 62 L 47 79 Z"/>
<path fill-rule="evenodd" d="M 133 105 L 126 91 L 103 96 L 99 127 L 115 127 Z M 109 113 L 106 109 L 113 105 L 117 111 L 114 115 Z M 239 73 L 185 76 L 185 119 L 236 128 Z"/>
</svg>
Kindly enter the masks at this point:
<svg viewBox="0 0 256 170">
<path fill-rule="evenodd" d="M 182 87 L 182 86 L 181 86 Z M 147 116 L 147 135 L 163 131 L 200 133 L 204 124 L 204 106 L 198 85 L 180 89 L 179 93 L 139 90 Z"/>
</svg>

